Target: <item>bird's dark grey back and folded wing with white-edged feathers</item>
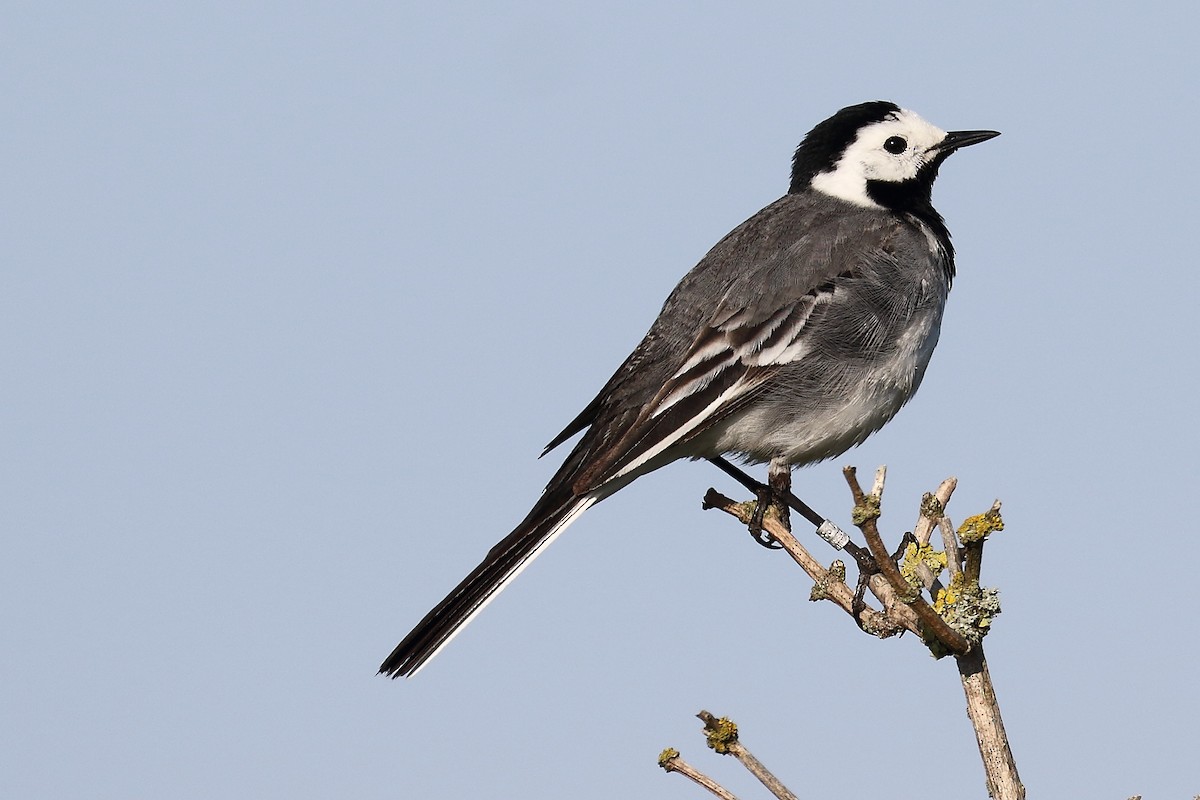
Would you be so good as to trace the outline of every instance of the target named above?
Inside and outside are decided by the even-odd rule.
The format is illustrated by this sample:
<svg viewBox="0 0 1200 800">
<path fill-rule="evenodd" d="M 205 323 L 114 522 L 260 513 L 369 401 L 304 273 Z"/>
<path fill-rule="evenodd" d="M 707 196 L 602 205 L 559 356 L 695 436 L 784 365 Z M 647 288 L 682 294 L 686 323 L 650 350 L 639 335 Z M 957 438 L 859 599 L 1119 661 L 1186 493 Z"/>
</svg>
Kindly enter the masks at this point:
<svg viewBox="0 0 1200 800">
<path fill-rule="evenodd" d="M 569 481 L 582 494 L 635 473 L 750 402 L 804 357 L 821 319 L 844 317 L 846 297 L 871 289 L 869 265 L 895 263 L 920 236 L 890 213 L 812 194 L 760 211 L 684 277 L 641 344 L 547 445 L 589 428 L 552 486 Z"/>
</svg>

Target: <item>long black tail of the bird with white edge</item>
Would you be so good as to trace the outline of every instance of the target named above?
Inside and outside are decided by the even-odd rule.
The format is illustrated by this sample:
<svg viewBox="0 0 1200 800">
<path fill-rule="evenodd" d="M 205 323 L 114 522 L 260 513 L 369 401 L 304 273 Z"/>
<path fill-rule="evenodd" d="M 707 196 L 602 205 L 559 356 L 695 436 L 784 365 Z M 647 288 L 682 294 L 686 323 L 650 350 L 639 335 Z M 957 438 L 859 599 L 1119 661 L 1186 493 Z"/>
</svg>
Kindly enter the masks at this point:
<svg viewBox="0 0 1200 800">
<path fill-rule="evenodd" d="M 562 498 L 556 494 L 558 493 L 542 495 L 524 522 L 488 551 L 484 563 L 416 624 L 384 660 L 379 667 L 380 674 L 391 678 L 415 675 L 521 570 L 599 499 L 594 494 L 581 497 L 564 492 L 565 497 Z"/>
</svg>

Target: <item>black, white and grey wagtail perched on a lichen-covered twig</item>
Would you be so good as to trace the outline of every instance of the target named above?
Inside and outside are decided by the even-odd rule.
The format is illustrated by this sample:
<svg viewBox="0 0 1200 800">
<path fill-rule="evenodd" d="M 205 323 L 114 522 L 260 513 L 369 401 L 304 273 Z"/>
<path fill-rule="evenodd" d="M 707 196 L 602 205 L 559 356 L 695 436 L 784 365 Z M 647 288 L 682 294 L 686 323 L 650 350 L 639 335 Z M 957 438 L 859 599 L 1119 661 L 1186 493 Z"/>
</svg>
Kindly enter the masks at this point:
<svg viewBox="0 0 1200 800">
<path fill-rule="evenodd" d="M 392 650 L 415 675 L 580 515 L 680 458 L 794 467 L 844 453 L 917 391 L 954 247 L 938 168 L 996 131 L 946 132 L 893 102 L 842 108 L 792 157 L 787 193 L 721 239 L 641 343 L 542 451 L 582 437 L 528 516 Z"/>
</svg>

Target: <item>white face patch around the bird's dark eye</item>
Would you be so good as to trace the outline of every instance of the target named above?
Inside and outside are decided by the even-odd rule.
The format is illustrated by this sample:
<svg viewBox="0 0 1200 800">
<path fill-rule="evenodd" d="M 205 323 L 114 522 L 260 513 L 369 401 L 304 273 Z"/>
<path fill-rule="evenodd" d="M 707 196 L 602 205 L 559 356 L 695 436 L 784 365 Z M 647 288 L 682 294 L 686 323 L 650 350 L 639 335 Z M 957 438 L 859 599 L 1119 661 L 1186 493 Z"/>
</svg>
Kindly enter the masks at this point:
<svg viewBox="0 0 1200 800">
<path fill-rule="evenodd" d="M 899 184 L 916 178 L 930 150 L 944 138 L 946 131 L 901 109 L 859 131 L 834 168 L 812 179 L 812 188 L 854 205 L 878 207 L 866 194 L 866 181 Z"/>
</svg>

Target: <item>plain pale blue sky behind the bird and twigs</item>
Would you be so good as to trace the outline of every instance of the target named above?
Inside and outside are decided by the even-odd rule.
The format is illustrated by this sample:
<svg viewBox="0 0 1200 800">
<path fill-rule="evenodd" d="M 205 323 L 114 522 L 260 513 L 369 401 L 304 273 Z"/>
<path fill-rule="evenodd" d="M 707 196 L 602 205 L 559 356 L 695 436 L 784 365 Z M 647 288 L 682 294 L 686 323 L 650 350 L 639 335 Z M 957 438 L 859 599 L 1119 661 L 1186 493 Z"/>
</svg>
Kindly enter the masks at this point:
<svg viewBox="0 0 1200 800">
<path fill-rule="evenodd" d="M 802 796 L 982 798 L 954 667 L 878 643 L 679 464 L 414 681 L 374 675 L 528 510 L 674 282 L 890 98 L 1004 136 L 935 193 L 942 344 L 883 518 L 1004 500 L 989 655 L 1031 796 L 1190 798 L 1189 4 L 8 4 L 5 798 L 700 798 L 728 714 Z M 833 557 L 817 551 L 823 559 Z M 920 776 L 894 781 L 919 765 Z"/>
</svg>

